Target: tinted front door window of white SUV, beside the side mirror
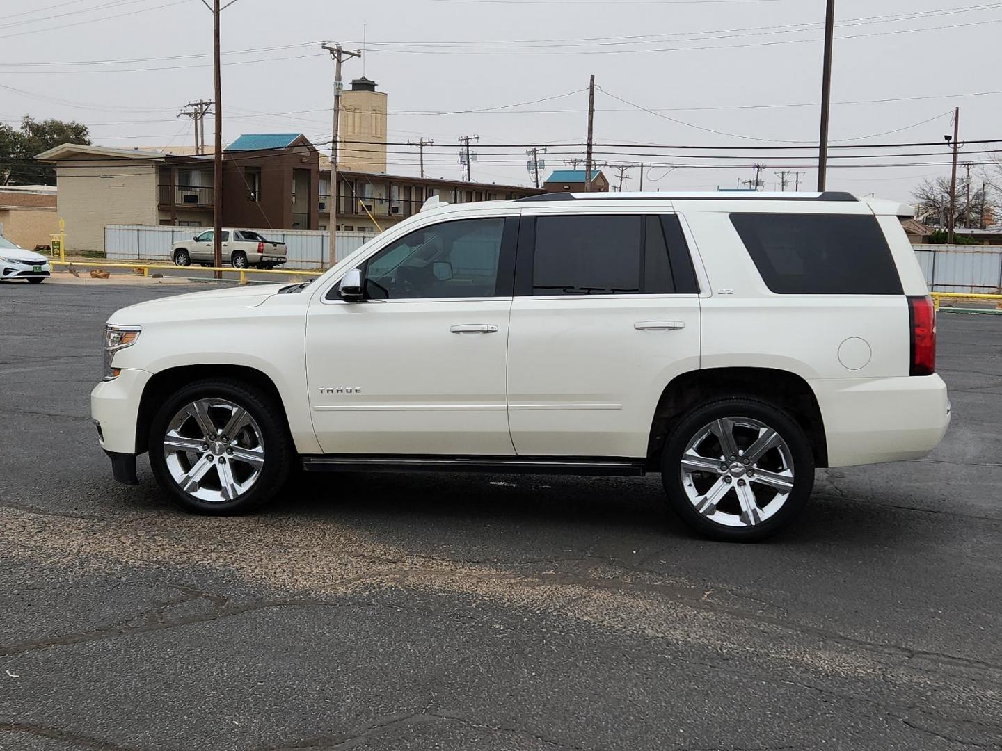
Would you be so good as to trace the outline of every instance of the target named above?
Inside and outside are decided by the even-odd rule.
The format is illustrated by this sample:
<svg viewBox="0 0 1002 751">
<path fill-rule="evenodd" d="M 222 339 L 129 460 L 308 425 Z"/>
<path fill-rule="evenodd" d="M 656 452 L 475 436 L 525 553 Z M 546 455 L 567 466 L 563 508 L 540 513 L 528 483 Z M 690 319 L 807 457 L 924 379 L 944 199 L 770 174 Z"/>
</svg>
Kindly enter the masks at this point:
<svg viewBox="0 0 1002 751">
<path fill-rule="evenodd" d="M 504 219 L 461 219 L 423 227 L 369 259 L 370 299 L 493 297 Z"/>
</svg>

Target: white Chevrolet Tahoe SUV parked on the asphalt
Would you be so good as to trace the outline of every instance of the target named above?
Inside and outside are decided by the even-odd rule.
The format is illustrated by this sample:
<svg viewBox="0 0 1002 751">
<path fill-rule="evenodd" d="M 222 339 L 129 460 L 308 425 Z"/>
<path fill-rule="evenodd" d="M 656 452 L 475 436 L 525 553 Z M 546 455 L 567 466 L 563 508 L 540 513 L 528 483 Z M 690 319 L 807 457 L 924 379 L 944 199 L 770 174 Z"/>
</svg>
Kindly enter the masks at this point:
<svg viewBox="0 0 1002 751">
<path fill-rule="evenodd" d="M 115 312 L 91 412 L 233 514 L 307 471 L 642 475 L 756 540 L 816 468 L 917 459 L 950 420 L 935 313 L 889 201 L 549 194 L 440 205 L 309 284 Z"/>
</svg>

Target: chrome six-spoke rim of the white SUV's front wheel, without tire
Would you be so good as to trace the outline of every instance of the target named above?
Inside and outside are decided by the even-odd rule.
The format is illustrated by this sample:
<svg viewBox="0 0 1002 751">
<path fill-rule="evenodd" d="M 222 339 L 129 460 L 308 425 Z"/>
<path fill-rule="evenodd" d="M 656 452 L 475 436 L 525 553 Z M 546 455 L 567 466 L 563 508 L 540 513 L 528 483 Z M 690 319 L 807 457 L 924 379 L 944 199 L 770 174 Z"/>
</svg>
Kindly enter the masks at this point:
<svg viewBox="0 0 1002 751">
<path fill-rule="evenodd" d="M 225 503 L 246 494 L 265 467 L 261 428 L 224 399 L 185 405 L 167 424 L 163 458 L 177 487 L 199 501 Z"/>
</svg>

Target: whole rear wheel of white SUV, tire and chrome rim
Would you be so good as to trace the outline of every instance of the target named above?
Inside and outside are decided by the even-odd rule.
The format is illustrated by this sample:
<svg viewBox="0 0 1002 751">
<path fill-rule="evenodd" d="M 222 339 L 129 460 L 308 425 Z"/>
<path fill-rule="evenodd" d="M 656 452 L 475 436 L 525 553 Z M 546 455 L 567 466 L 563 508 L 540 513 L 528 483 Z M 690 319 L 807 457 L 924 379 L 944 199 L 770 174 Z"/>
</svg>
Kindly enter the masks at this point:
<svg viewBox="0 0 1002 751">
<path fill-rule="evenodd" d="M 804 508 L 814 487 L 814 453 L 787 413 L 750 399 L 697 407 L 671 431 L 661 457 L 668 501 L 714 540 L 775 535 Z"/>
</svg>

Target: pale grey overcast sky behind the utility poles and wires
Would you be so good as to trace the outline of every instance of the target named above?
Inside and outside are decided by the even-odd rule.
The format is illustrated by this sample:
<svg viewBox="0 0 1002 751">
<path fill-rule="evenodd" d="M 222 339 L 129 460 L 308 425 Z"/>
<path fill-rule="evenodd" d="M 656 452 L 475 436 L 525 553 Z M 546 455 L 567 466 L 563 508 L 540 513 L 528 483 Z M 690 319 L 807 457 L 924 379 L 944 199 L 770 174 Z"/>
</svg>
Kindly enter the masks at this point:
<svg viewBox="0 0 1002 751">
<path fill-rule="evenodd" d="M 943 145 L 909 159 L 842 151 L 853 158 L 833 160 L 830 189 L 908 200 L 923 177 L 949 175 L 935 163 L 949 161 L 955 106 L 962 140 L 1002 137 L 1002 2 L 837 0 L 836 16 L 833 144 Z M 320 44 L 361 48 L 365 34 L 365 74 L 389 95 L 390 139 L 434 139 L 429 176 L 459 177 L 457 136 L 477 134 L 474 179 L 530 184 L 528 145 L 583 143 L 592 73 L 598 143 L 816 143 L 824 17 L 824 0 L 235 0 L 222 13 L 223 138 L 329 140 L 333 64 Z M 95 143 L 190 143 L 190 121 L 175 115 L 212 95 L 211 14 L 200 0 L 3 0 L 0 49 L 0 119 L 76 119 Z M 363 63 L 344 72 L 360 76 Z M 520 102 L 533 103 L 510 106 Z M 508 143 L 525 145 L 486 145 Z M 389 150 L 391 172 L 417 173 L 416 149 Z M 551 147 L 546 171 L 580 151 Z M 801 172 L 802 188 L 817 181 L 809 151 L 602 146 L 596 158 L 704 165 L 648 168 L 645 189 L 734 187 L 756 162 L 768 189 L 784 169 Z M 874 166 L 891 163 L 906 166 Z M 605 171 L 616 184 L 617 170 Z M 639 169 L 626 174 L 624 188 L 636 189 Z"/>
</svg>

